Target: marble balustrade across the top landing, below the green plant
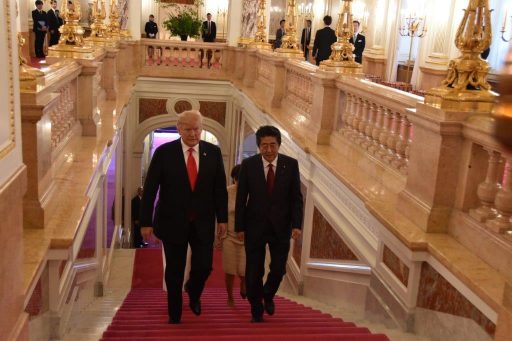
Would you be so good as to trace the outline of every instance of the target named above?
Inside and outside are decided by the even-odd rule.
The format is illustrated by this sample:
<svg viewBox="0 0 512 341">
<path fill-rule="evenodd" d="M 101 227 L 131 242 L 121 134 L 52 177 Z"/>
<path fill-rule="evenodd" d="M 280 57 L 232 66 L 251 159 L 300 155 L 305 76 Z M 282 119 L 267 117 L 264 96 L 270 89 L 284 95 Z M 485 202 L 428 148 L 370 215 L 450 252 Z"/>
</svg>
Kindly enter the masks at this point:
<svg viewBox="0 0 512 341">
<path fill-rule="evenodd" d="M 223 69 L 225 43 L 141 39 L 142 66 Z"/>
</svg>

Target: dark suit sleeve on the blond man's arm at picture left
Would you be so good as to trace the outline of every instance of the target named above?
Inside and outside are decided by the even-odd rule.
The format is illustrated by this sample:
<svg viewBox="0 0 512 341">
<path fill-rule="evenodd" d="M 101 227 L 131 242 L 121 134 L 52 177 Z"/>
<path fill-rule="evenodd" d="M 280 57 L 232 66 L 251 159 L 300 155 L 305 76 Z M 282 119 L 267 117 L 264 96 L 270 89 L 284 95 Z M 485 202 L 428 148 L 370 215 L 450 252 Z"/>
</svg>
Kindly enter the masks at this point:
<svg viewBox="0 0 512 341">
<path fill-rule="evenodd" d="M 142 227 L 153 226 L 153 209 L 155 198 L 160 183 L 162 182 L 162 164 L 164 162 L 162 149 L 158 148 L 151 159 L 146 181 L 144 182 L 144 193 L 142 194 L 140 225 Z"/>
</svg>

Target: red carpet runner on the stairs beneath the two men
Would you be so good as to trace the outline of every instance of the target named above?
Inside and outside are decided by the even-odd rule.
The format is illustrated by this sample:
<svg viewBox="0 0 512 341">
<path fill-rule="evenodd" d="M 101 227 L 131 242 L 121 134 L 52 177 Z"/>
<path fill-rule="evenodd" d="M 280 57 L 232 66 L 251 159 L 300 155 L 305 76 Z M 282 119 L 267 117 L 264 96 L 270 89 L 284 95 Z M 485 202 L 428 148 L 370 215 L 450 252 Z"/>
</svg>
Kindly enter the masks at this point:
<svg viewBox="0 0 512 341">
<path fill-rule="evenodd" d="M 188 309 L 185 294 L 182 323 L 169 325 L 166 293 L 160 289 L 161 258 L 160 250 L 137 249 L 133 288 L 101 340 L 389 341 L 384 335 L 371 334 L 367 328 L 281 297 L 275 299 L 274 316 L 265 315 L 264 323 L 250 323 L 247 301 L 238 297 L 235 307 L 226 304 L 227 295 L 221 287 L 220 252 L 215 253 L 214 271 L 201 297 L 201 316 L 193 315 Z"/>
</svg>

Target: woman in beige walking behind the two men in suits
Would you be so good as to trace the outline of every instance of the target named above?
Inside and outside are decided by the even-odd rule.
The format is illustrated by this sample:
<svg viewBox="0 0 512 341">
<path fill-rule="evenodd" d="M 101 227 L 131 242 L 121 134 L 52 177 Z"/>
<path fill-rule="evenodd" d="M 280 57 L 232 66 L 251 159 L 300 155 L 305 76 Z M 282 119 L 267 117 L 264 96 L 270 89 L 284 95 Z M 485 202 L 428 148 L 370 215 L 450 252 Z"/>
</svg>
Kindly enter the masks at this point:
<svg viewBox="0 0 512 341">
<path fill-rule="evenodd" d="M 245 294 L 245 250 L 244 241 L 238 240 L 235 232 L 235 201 L 236 187 L 240 165 L 231 170 L 231 178 L 234 184 L 228 186 L 228 229 L 225 236 L 221 237 L 222 247 L 222 268 L 226 274 L 226 290 L 228 292 L 228 305 L 233 306 L 233 283 L 235 276 L 240 277 L 240 296 L 246 298 Z"/>
</svg>

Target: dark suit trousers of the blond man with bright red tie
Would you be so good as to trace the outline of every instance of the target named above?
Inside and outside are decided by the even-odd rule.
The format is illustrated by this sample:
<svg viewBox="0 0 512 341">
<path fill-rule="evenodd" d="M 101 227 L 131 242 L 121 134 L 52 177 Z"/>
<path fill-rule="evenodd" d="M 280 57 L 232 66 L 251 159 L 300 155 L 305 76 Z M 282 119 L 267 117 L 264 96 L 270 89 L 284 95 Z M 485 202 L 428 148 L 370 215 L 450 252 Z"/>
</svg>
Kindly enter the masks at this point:
<svg viewBox="0 0 512 341">
<path fill-rule="evenodd" d="M 190 244 L 192 259 L 190 276 L 186 287 L 191 300 L 199 300 L 208 276 L 212 271 L 213 243 L 204 244 L 197 238 L 197 229 L 193 222 L 189 226 L 188 243 L 162 241 L 165 252 L 165 284 L 167 285 L 167 310 L 169 317 L 181 319 L 183 306 L 183 277 L 187 261 L 187 248 Z"/>
</svg>

